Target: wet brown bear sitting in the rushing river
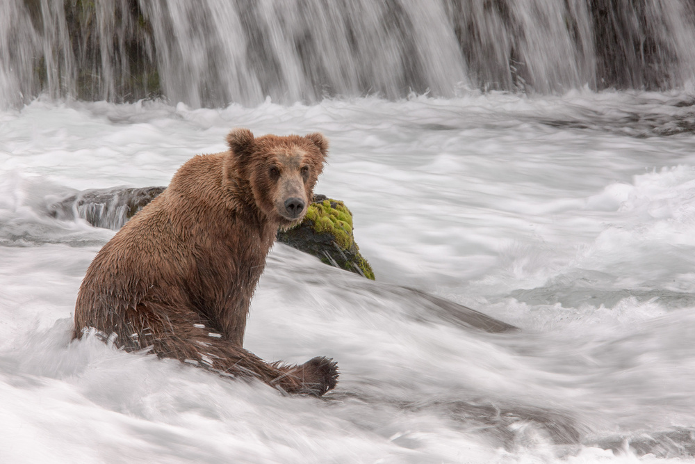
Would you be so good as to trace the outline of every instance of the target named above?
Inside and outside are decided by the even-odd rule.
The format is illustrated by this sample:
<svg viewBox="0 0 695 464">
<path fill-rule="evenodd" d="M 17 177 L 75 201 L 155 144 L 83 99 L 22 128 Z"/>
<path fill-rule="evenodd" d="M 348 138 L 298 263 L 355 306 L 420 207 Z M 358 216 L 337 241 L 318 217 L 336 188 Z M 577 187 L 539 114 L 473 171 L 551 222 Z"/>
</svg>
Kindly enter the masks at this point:
<svg viewBox="0 0 695 464">
<path fill-rule="evenodd" d="M 321 134 L 227 136 L 198 155 L 115 234 L 90 264 L 74 337 L 97 330 L 128 351 L 152 351 L 288 393 L 335 387 L 336 362 L 268 364 L 243 349 L 251 297 L 279 227 L 302 221 L 322 171 Z"/>
</svg>

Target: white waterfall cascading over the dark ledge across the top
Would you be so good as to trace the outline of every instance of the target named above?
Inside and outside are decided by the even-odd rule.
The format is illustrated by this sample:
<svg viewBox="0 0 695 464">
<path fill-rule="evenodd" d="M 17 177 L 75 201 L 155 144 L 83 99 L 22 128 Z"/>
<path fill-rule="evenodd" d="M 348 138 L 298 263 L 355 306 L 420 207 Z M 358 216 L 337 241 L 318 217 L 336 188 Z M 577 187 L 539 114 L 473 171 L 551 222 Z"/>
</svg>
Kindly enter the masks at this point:
<svg viewBox="0 0 695 464">
<path fill-rule="evenodd" d="M 693 0 L 4 0 L 0 105 L 688 85 Z"/>
</svg>

